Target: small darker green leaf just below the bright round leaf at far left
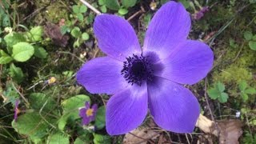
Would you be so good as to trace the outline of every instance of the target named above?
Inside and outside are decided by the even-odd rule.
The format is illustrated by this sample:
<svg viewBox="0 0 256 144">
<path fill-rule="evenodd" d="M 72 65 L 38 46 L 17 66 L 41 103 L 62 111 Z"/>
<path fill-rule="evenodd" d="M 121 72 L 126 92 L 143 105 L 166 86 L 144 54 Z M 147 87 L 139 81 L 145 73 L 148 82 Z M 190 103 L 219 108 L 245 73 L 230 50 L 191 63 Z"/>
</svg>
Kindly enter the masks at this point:
<svg viewBox="0 0 256 144">
<path fill-rule="evenodd" d="M 13 63 L 10 64 L 10 77 L 14 79 L 14 81 L 20 83 L 24 79 L 24 74 L 22 72 L 22 69 L 19 67 L 16 67 Z"/>
</svg>

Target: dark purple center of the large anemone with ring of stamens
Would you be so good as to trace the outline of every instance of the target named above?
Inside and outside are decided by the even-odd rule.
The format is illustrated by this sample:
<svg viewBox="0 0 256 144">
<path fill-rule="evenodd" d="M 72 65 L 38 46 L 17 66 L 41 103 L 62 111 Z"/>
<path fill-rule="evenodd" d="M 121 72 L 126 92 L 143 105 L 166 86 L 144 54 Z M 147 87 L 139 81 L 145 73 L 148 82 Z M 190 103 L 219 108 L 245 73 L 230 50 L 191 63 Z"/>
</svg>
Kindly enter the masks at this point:
<svg viewBox="0 0 256 144">
<path fill-rule="evenodd" d="M 150 62 L 148 56 L 145 57 L 133 54 L 133 56 L 126 58 L 126 62 L 123 62 L 123 69 L 121 74 L 128 83 L 131 85 L 137 84 L 142 85 L 142 82 L 152 80 L 152 63 Z"/>
</svg>

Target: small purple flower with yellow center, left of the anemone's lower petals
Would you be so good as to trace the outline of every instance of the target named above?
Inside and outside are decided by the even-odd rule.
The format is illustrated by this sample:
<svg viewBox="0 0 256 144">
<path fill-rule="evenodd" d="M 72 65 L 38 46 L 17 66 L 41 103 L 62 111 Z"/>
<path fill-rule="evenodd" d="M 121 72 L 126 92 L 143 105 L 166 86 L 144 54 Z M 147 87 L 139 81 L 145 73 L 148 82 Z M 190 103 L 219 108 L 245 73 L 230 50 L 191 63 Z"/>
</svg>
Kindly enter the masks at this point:
<svg viewBox="0 0 256 144">
<path fill-rule="evenodd" d="M 82 125 L 87 125 L 91 121 L 94 121 L 97 110 L 98 110 L 98 106 L 96 104 L 94 104 L 90 108 L 90 103 L 86 102 L 85 107 L 82 107 L 79 110 L 79 116 L 82 118 Z"/>
</svg>

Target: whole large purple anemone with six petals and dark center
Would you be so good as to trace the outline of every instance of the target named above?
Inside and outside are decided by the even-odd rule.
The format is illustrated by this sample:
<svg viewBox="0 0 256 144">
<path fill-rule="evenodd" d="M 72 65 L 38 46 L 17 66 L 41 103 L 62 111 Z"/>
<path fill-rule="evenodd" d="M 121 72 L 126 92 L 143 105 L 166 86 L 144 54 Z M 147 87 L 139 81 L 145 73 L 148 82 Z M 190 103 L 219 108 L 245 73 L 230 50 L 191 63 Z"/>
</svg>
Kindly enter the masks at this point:
<svg viewBox="0 0 256 144">
<path fill-rule="evenodd" d="M 137 128 L 148 107 L 154 122 L 176 133 L 194 130 L 199 103 L 184 84 L 206 77 L 214 55 L 203 42 L 187 40 L 190 14 L 179 2 L 167 2 L 151 20 L 144 46 L 124 18 L 99 14 L 94 34 L 105 57 L 94 58 L 77 73 L 92 94 L 111 94 L 106 104 L 110 135 Z"/>
</svg>

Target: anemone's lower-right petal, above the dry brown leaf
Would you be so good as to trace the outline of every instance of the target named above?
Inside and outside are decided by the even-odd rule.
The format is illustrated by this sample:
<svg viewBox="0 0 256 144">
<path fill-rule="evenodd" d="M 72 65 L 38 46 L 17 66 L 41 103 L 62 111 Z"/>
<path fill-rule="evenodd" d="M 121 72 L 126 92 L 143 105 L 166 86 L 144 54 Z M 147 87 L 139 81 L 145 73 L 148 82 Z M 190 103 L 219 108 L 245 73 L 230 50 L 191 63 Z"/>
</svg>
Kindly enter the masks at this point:
<svg viewBox="0 0 256 144">
<path fill-rule="evenodd" d="M 199 103 L 185 87 L 155 78 L 148 83 L 150 114 L 162 129 L 176 133 L 190 133 L 199 116 Z"/>
</svg>

